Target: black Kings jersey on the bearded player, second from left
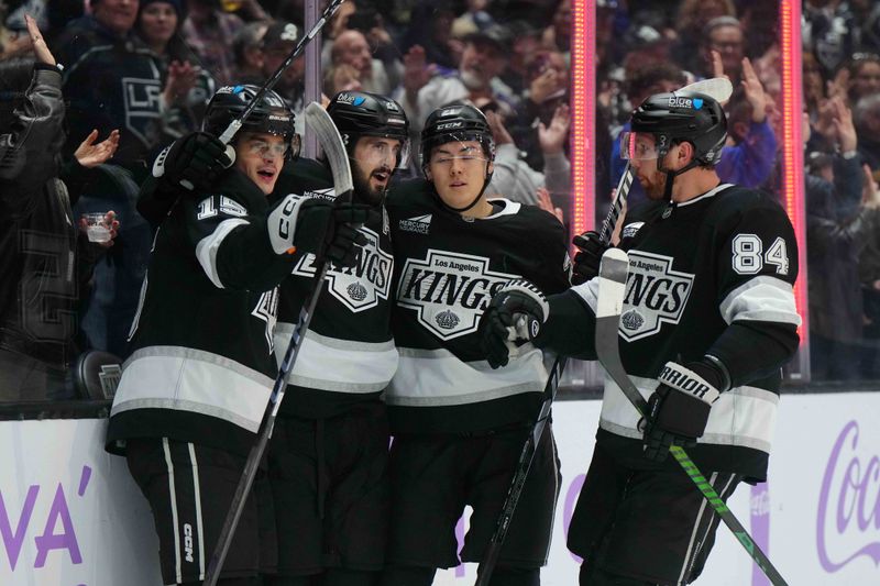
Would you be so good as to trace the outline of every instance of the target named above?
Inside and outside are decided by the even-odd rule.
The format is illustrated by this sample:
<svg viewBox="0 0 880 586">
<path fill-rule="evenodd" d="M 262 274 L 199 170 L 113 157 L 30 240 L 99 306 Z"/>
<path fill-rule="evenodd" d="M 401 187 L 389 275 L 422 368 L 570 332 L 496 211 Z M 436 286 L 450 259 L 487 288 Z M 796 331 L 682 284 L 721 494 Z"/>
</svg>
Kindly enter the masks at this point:
<svg viewBox="0 0 880 586">
<path fill-rule="evenodd" d="M 311 159 L 285 166 L 273 197 L 288 194 L 336 198 L 330 169 Z M 378 400 L 397 369 L 391 331 L 394 257 L 384 207 L 361 228 L 366 245 L 354 267 L 330 267 L 290 373 L 280 413 L 305 418 L 340 414 L 361 401 Z M 315 287 L 315 255 L 296 253 L 293 275 L 282 283 L 275 346 L 280 364 L 300 308 Z"/>
</svg>

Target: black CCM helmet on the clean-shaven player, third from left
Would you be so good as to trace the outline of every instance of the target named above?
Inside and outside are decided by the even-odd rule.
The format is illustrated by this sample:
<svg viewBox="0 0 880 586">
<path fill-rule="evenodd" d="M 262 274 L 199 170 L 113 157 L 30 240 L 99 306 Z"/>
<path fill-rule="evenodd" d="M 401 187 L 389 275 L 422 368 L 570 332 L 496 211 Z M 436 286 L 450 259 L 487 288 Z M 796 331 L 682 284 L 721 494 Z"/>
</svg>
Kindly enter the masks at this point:
<svg viewBox="0 0 880 586">
<path fill-rule="evenodd" d="M 438 108 L 428 115 L 421 131 L 421 166 L 428 166 L 431 150 L 453 141 L 479 141 L 486 159 L 495 161 L 495 140 L 483 112 L 469 103 Z"/>
</svg>

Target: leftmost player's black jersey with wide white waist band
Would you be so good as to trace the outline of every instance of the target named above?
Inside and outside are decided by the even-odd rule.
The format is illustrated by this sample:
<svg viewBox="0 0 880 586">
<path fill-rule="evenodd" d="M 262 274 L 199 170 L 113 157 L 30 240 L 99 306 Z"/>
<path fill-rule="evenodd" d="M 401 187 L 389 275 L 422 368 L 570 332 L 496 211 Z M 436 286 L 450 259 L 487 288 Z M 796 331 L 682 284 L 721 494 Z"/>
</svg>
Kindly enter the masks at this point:
<svg viewBox="0 0 880 586">
<path fill-rule="evenodd" d="M 246 454 L 277 373 L 276 255 L 268 202 L 231 169 L 218 192 L 185 195 L 153 244 L 107 443 L 168 436 Z"/>
</svg>

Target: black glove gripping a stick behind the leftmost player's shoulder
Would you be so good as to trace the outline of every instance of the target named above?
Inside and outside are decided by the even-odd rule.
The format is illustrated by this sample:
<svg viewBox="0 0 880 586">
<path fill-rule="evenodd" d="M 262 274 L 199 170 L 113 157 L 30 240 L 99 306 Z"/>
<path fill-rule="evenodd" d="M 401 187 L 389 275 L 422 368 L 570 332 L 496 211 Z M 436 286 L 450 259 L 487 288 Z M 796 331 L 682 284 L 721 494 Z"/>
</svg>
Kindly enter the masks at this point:
<svg viewBox="0 0 880 586">
<path fill-rule="evenodd" d="M 153 177 L 190 191 L 204 191 L 235 162 L 235 150 L 207 132 L 174 141 L 153 163 Z"/>
</svg>

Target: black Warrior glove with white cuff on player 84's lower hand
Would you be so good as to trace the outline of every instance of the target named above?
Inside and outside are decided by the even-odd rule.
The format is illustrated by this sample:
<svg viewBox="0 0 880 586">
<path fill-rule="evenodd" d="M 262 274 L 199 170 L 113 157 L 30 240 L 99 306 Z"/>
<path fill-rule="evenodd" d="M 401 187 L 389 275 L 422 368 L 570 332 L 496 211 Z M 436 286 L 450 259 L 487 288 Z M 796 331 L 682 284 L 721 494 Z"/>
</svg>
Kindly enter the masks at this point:
<svg viewBox="0 0 880 586">
<path fill-rule="evenodd" d="M 727 385 L 719 368 L 708 362 L 688 366 L 668 362 L 657 379 L 660 386 L 648 399 L 645 457 L 663 462 L 673 444 L 696 444 L 706 430 L 712 405 Z"/>
</svg>

